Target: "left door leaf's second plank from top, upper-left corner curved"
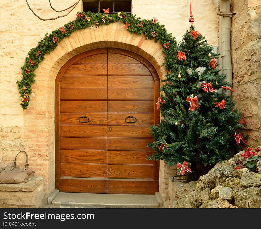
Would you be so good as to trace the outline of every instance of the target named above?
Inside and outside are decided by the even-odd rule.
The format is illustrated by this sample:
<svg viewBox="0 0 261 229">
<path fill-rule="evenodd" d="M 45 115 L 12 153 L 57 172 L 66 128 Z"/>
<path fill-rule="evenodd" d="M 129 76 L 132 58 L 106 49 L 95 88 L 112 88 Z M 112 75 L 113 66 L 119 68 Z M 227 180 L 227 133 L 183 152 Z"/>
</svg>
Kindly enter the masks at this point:
<svg viewBox="0 0 261 229">
<path fill-rule="evenodd" d="M 107 75 L 107 64 L 73 64 L 64 73 L 64 76 Z"/>
</svg>

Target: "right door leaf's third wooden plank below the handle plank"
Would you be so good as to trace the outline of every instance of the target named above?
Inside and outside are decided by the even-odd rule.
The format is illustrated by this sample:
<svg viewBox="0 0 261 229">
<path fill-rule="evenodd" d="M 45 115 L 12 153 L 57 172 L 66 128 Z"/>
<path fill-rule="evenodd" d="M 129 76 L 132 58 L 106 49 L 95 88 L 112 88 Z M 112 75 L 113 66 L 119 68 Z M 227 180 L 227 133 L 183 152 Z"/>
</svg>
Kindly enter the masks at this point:
<svg viewBox="0 0 261 229">
<path fill-rule="evenodd" d="M 108 163 L 109 164 L 154 164 L 153 160 L 146 160 L 152 155 L 154 151 L 115 151 L 108 150 Z"/>
</svg>

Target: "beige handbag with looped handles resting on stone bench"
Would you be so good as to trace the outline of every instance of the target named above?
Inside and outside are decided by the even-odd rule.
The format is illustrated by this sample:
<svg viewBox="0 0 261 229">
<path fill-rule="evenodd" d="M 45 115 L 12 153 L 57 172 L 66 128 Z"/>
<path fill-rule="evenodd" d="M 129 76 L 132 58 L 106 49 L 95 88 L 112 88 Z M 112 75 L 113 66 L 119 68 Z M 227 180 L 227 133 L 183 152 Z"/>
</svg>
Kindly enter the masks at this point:
<svg viewBox="0 0 261 229">
<path fill-rule="evenodd" d="M 17 166 L 16 165 L 16 157 L 20 152 L 24 152 L 26 154 L 26 163 Z M 4 171 L 0 173 L 0 184 L 20 184 L 20 183 L 26 183 L 28 181 L 28 178 L 30 174 L 34 171 L 28 170 L 28 155 L 25 151 L 21 150 L 17 153 L 15 156 L 15 161 L 12 166 L 6 166 Z M 23 167 L 24 168 L 20 168 Z"/>
</svg>

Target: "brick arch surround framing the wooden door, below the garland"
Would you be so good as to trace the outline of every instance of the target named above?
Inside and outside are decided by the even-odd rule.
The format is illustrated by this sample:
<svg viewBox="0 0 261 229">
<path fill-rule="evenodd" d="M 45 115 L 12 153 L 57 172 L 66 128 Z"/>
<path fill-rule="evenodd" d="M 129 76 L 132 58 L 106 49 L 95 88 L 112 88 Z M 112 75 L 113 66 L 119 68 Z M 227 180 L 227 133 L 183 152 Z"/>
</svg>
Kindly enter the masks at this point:
<svg viewBox="0 0 261 229">
<path fill-rule="evenodd" d="M 36 77 L 35 84 L 32 85 L 31 105 L 24 111 L 24 123 L 27 130 L 35 128 L 35 142 L 31 141 L 29 151 L 30 148 L 34 149 L 32 152 L 40 152 L 39 156 L 46 158 L 41 163 L 36 163 L 35 168 L 38 175 L 44 177 L 46 196 L 55 188 L 55 78 L 63 64 L 70 58 L 79 53 L 103 47 L 120 48 L 139 54 L 154 66 L 160 80 L 166 74 L 165 66 L 163 66 L 165 59 L 160 43 L 148 40 L 144 35 L 131 34 L 120 22 L 74 31 L 69 37 L 59 42 L 55 50 L 45 55 L 44 61 L 34 71 Z M 31 114 L 35 118 L 28 119 L 26 114 Z M 35 157 L 37 158 L 37 155 Z M 165 173 L 167 169 L 161 162 L 160 192 L 167 189 L 165 181 L 168 179 Z"/>
</svg>

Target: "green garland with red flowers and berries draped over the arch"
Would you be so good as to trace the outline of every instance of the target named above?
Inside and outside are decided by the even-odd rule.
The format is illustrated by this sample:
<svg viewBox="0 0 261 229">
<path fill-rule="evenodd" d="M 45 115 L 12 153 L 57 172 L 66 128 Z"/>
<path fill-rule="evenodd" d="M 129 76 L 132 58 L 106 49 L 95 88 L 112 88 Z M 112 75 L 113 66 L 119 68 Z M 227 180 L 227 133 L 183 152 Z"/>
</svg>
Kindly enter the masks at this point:
<svg viewBox="0 0 261 229">
<path fill-rule="evenodd" d="M 77 29 L 96 28 L 98 26 L 109 25 L 121 21 L 124 27 L 130 33 L 136 33 L 146 36 L 146 39 L 154 39 L 155 42 L 160 41 L 165 54 L 165 66 L 168 70 L 172 70 L 171 60 L 173 53 L 177 52 L 177 43 L 171 34 L 167 33 L 165 26 L 160 25 L 155 18 L 151 20 L 141 20 L 136 15 L 119 12 L 118 14 L 100 14 L 91 12 L 78 12 L 76 19 L 61 28 L 55 29 L 51 34 L 45 34 L 44 38 L 38 42 L 38 45 L 32 48 L 25 58 L 25 63 L 21 67 L 23 78 L 17 81 L 20 90 L 20 98 L 23 109 L 29 105 L 31 94 L 31 83 L 34 83 L 34 70 L 38 64 L 44 60 L 44 55 L 54 50 L 58 42 L 68 37 Z M 129 25 L 129 26 L 128 26 Z"/>
</svg>

